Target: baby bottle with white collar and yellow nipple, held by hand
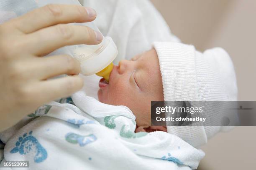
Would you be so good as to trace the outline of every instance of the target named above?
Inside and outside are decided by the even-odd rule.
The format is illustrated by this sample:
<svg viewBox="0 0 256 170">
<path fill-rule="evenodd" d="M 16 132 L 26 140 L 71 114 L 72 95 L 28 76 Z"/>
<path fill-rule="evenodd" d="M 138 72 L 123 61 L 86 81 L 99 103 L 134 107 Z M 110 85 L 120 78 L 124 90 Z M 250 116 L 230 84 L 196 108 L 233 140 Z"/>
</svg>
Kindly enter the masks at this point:
<svg viewBox="0 0 256 170">
<path fill-rule="evenodd" d="M 81 5 L 78 0 L 36 0 L 38 7 L 55 4 Z M 74 25 L 84 25 L 100 32 L 93 23 L 73 23 Z M 118 50 L 111 37 L 103 37 L 98 45 L 71 45 L 68 47 L 70 55 L 76 58 L 81 64 L 82 75 L 96 74 L 109 80 L 110 72 L 113 69 L 113 60 L 118 55 Z M 67 51 L 67 49 L 66 49 Z"/>
</svg>

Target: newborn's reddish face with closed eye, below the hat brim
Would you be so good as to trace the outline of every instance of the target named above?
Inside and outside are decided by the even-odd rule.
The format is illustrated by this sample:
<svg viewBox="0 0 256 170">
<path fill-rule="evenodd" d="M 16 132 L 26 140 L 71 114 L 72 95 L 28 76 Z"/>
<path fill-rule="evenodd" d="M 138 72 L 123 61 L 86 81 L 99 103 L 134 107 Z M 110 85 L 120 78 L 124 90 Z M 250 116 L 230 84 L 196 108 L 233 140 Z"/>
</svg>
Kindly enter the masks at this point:
<svg viewBox="0 0 256 170">
<path fill-rule="evenodd" d="M 151 100 L 164 100 L 159 61 L 154 49 L 121 60 L 115 65 L 109 84 L 99 83 L 100 102 L 125 105 L 136 116 L 137 126 L 151 125 Z"/>
</svg>

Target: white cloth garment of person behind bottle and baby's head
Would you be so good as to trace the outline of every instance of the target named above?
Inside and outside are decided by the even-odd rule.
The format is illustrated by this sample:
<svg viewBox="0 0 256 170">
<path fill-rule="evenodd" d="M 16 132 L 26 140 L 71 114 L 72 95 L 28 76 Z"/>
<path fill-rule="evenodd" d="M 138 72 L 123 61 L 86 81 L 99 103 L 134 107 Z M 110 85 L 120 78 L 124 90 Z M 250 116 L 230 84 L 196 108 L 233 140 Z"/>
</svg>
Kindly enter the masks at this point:
<svg viewBox="0 0 256 170">
<path fill-rule="evenodd" d="M 97 12 L 95 23 L 118 47 L 114 63 L 151 49 L 154 41 L 180 40 L 148 0 L 80 0 Z"/>
</svg>

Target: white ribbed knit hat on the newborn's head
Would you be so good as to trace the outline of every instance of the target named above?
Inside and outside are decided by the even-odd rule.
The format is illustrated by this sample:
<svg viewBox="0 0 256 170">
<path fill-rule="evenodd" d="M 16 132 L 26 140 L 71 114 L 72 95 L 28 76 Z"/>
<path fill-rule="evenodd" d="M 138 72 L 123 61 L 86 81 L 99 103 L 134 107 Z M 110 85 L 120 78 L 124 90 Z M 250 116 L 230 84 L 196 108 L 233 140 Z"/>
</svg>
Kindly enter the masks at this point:
<svg viewBox="0 0 256 170">
<path fill-rule="evenodd" d="M 237 100 L 236 75 L 225 50 L 215 47 L 201 53 L 192 45 L 154 42 L 165 101 Z M 194 147 L 207 143 L 220 126 L 167 126 Z"/>
</svg>

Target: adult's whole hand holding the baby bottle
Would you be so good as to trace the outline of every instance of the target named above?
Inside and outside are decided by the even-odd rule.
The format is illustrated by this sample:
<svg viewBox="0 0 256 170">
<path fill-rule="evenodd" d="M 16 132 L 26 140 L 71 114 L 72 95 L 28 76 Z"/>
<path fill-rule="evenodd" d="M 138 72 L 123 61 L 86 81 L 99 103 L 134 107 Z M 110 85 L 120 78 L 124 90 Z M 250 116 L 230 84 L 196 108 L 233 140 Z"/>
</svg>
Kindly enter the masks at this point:
<svg viewBox="0 0 256 170">
<path fill-rule="evenodd" d="M 69 55 L 41 57 L 66 45 L 95 45 L 102 35 L 68 25 L 90 22 L 95 10 L 77 5 L 46 5 L 0 25 L 0 131 L 46 102 L 81 89 L 80 65 Z M 47 80 L 67 74 L 67 77 Z"/>
</svg>

